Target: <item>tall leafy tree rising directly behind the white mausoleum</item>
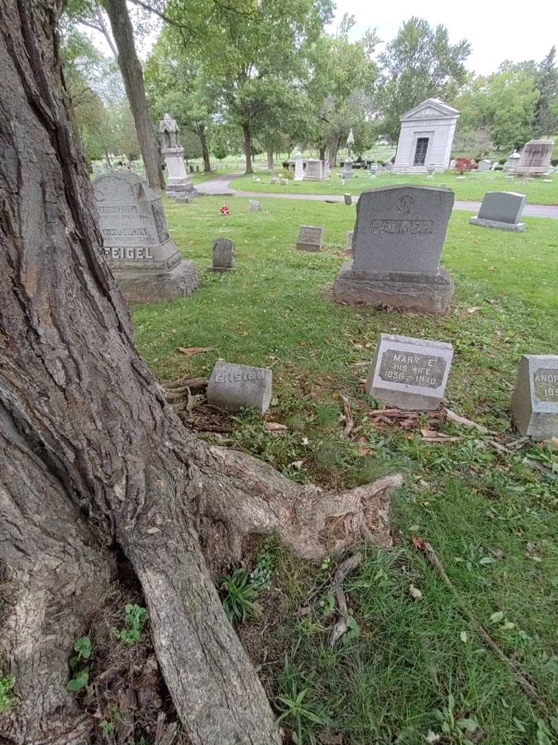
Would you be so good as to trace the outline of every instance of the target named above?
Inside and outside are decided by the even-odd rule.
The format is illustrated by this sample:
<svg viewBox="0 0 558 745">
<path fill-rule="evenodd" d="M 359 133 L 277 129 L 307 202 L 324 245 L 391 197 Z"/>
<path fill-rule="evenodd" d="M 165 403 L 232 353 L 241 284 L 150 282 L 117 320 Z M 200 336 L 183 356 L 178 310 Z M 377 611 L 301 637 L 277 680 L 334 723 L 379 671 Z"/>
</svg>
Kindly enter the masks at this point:
<svg viewBox="0 0 558 745">
<path fill-rule="evenodd" d="M 455 102 L 466 80 L 464 62 L 471 53 L 466 39 L 450 44 L 448 30 L 434 30 L 423 19 L 405 21 L 397 36 L 379 55 L 381 85 L 378 107 L 385 120 L 385 134 L 397 142 L 400 116 L 426 98 Z"/>
</svg>

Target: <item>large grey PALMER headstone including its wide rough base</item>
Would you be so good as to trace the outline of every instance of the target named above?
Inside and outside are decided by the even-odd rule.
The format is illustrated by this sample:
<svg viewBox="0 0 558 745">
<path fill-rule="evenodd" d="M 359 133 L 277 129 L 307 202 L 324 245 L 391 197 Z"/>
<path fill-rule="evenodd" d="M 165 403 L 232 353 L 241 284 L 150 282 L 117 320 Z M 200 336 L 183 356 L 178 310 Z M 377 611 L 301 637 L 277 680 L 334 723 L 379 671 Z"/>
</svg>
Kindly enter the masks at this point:
<svg viewBox="0 0 558 745">
<path fill-rule="evenodd" d="M 344 302 L 446 311 L 454 285 L 440 255 L 454 194 L 434 186 L 381 186 L 356 205 L 353 261 L 336 276 Z"/>
</svg>

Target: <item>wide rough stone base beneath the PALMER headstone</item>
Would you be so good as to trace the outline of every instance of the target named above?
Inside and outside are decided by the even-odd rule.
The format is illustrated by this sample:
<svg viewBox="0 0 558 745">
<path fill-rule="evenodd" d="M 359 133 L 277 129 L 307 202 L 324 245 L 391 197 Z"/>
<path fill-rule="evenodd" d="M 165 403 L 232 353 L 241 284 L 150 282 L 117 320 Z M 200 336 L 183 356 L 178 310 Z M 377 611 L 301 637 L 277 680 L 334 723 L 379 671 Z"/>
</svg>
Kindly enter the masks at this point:
<svg viewBox="0 0 558 745">
<path fill-rule="evenodd" d="M 336 276 L 333 294 L 350 305 L 389 305 L 426 313 L 443 313 L 452 302 L 455 285 L 444 267 L 438 274 L 363 272 L 346 261 Z"/>
</svg>

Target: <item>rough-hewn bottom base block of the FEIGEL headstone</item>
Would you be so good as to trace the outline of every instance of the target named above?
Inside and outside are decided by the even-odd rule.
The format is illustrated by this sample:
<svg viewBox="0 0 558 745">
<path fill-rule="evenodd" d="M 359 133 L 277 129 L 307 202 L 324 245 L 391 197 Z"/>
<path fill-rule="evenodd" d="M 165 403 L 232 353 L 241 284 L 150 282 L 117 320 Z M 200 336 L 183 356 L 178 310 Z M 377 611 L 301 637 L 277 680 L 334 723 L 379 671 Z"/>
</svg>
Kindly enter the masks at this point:
<svg viewBox="0 0 558 745">
<path fill-rule="evenodd" d="M 168 271 L 113 269 L 112 273 L 129 303 L 176 300 L 199 287 L 196 267 L 187 259 Z"/>
</svg>

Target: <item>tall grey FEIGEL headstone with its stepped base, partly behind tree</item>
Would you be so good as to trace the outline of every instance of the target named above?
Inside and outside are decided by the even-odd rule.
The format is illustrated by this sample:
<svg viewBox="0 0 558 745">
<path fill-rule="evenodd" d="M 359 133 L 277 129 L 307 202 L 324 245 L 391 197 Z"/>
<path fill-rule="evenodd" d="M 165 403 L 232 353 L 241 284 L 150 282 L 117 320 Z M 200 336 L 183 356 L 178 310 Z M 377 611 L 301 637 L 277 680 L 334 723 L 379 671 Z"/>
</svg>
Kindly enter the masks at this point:
<svg viewBox="0 0 558 745">
<path fill-rule="evenodd" d="M 132 171 L 93 184 L 106 260 L 129 302 L 189 295 L 199 286 L 193 261 L 170 240 L 161 197 Z"/>
</svg>

